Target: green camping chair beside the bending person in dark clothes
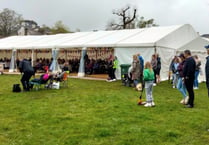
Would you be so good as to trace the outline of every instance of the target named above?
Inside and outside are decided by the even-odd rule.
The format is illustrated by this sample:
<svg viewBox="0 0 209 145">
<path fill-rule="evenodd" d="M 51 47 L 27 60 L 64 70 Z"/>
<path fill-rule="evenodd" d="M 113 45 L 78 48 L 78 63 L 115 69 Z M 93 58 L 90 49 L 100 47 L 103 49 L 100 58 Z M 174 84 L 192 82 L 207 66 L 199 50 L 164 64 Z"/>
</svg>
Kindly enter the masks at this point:
<svg viewBox="0 0 209 145">
<path fill-rule="evenodd" d="M 52 79 L 52 75 L 48 77 L 48 79 L 44 80 L 43 75 L 41 75 L 40 79 L 33 79 L 29 82 L 31 88 L 35 88 L 36 90 L 39 90 L 41 86 L 44 86 L 46 88 L 50 88 L 50 83 L 48 83 L 49 80 Z"/>
</svg>

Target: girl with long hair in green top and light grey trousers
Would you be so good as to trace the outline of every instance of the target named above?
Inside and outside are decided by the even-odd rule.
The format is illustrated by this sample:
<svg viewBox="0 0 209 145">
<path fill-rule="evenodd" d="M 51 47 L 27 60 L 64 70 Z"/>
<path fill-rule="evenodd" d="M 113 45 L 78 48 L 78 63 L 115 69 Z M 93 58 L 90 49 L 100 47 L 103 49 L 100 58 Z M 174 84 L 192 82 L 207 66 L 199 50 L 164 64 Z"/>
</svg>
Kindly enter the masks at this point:
<svg viewBox="0 0 209 145">
<path fill-rule="evenodd" d="M 145 63 L 143 76 L 144 76 L 143 79 L 145 82 L 145 91 L 146 91 L 146 104 L 144 106 L 145 107 L 155 106 L 152 96 L 152 88 L 155 80 L 155 75 L 154 75 L 154 71 L 152 70 L 152 65 L 150 62 Z"/>
</svg>

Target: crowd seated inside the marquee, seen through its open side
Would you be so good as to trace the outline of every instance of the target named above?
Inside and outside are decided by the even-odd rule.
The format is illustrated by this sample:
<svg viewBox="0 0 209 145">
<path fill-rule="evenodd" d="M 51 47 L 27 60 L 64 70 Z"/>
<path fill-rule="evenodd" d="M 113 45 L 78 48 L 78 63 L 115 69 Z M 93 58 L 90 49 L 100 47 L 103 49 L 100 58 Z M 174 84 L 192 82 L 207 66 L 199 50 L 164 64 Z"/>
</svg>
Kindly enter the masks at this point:
<svg viewBox="0 0 209 145">
<path fill-rule="evenodd" d="M 31 58 L 28 59 L 31 61 Z M 46 69 L 50 68 L 50 65 L 52 63 L 52 58 L 37 58 L 34 61 L 33 67 L 35 72 L 45 72 Z M 9 58 L 1 58 L 0 63 L 4 64 L 4 69 L 9 69 L 11 59 Z M 19 66 L 20 60 L 16 59 L 16 65 Z M 71 73 L 77 73 L 79 70 L 80 65 L 80 59 L 69 59 L 65 60 L 62 58 L 58 58 L 57 62 L 60 66 L 60 68 L 63 68 L 64 66 L 69 69 Z M 32 63 L 32 62 L 31 62 Z M 108 59 L 87 59 L 85 61 L 85 73 L 88 75 L 91 74 L 108 74 L 109 70 L 109 60 Z"/>
</svg>

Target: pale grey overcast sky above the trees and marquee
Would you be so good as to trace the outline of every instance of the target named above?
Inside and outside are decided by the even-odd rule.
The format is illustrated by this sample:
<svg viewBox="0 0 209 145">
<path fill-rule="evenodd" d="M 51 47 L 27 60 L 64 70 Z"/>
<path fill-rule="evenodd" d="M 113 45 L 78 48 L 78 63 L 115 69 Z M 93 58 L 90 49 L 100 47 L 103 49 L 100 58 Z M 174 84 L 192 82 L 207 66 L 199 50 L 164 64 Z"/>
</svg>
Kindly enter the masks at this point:
<svg viewBox="0 0 209 145">
<path fill-rule="evenodd" d="M 160 26 L 191 24 L 200 34 L 209 33 L 208 0 L 0 0 L 0 11 L 12 9 L 40 26 L 61 20 L 72 31 L 91 31 L 104 30 L 114 19 L 112 11 L 127 4 Z"/>
</svg>

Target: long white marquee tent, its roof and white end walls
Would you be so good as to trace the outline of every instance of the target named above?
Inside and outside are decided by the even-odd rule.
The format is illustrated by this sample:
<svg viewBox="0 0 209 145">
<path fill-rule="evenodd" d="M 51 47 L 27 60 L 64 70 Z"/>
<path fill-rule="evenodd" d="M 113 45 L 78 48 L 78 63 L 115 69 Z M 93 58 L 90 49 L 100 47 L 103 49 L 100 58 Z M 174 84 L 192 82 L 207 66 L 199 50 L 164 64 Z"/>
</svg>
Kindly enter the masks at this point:
<svg viewBox="0 0 209 145">
<path fill-rule="evenodd" d="M 92 47 L 112 47 L 120 64 L 131 64 L 132 55 L 136 53 L 140 53 L 145 61 L 149 61 L 151 55 L 156 52 L 162 61 L 161 78 L 166 79 L 169 63 L 178 49 L 197 42 L 196 39 L 200 39 L 199 35 L 191 25 L 185 24 L 131 30 L 11 36 L 0 40 L 0 50 L 82 48 L 85 51 L 86 48 Z M 117 76 L 120 77 L 120 70 L 117 71 Z"/>
</svg>

